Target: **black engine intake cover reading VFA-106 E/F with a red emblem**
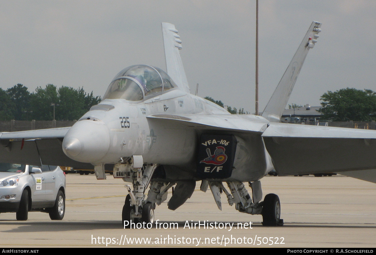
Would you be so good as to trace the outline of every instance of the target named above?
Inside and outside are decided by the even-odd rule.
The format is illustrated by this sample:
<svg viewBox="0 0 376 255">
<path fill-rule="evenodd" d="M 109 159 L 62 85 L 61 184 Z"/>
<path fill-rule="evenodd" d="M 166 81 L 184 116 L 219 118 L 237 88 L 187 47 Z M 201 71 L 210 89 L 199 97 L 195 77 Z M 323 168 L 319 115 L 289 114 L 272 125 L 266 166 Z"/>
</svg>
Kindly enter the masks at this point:
<svg viewBox="0 0 376 255">
<path fill-rule="evenodd" d="M 202 179 L 224 179 L 232 174 L 237 139 L 233 135 L 202 134 L 196 175 Z"/>
</svg>

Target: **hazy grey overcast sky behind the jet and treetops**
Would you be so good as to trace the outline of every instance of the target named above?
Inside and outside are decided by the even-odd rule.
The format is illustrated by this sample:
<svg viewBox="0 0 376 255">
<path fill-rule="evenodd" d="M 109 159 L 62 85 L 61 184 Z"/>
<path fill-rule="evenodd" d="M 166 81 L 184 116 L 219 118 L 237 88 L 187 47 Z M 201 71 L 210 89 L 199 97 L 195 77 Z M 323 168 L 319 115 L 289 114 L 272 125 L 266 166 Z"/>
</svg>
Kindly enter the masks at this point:
<svg viewBox="0 0 376 255">
<path fill-rule="evenodd" d="M 376 91 L 376 1 L 259 1 L 260 111 L 312 21 L 322 32 L 289 103 L 341 88 Z M 52 83 L 103 96 L 123 68 L 165 70 L 161 22 L 179 30 L 191 92 L 255 109 L 256 1 L 0 0 L 0 86 Z"/>
</svg>

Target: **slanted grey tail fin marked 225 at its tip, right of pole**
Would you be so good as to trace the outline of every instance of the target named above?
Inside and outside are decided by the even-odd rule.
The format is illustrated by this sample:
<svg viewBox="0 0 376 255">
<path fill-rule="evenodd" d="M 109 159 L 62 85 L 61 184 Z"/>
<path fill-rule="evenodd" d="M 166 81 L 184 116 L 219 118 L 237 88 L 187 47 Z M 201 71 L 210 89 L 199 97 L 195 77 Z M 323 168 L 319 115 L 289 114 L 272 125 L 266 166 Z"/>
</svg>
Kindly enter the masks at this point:
<svg viewBox="0 0 376 255">
<path fill-rule="evenodd" d="M 320 22 L 312 22 L 302 43 L 299 45 L 298 50 L 291 60 L 290 65 L 288 65 L 276 90 L 265 107 L 262 117 L 273 122 L 280 121 L 308 51 L 310 48 L 313 48 L 317 42 L 318 33 L 321 32 L 320 27 Z"/>
</svg>

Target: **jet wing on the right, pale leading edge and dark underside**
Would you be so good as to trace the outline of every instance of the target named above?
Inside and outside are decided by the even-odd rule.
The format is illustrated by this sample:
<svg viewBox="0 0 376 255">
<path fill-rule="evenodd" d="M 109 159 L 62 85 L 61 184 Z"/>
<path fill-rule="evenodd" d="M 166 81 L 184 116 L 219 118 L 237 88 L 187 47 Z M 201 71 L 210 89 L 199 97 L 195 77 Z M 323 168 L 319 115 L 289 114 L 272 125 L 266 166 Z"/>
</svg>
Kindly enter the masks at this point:
<svg viewBox="0 0 376 255">
<path fill-rule="evenodd" d="M 278 175 L 376 169 L 376 131 L 272 123 L 262 134 Z"/>
</svg>

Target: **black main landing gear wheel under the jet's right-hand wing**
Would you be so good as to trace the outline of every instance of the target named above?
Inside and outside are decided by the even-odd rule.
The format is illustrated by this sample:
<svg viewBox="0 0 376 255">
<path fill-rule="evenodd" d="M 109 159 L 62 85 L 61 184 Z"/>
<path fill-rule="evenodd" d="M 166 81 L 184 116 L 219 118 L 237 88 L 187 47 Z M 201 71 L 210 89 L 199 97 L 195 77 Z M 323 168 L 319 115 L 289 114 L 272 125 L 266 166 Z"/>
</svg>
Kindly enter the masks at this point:
<svg viewBox="0 0 376 255">
<path fill-rule="evenodd" d="M 268 194 L 265 196 L 261 214 L 263 226 L 277 226 L 281 215 L 281 207 L 276 194 Z"/>
</svg>

